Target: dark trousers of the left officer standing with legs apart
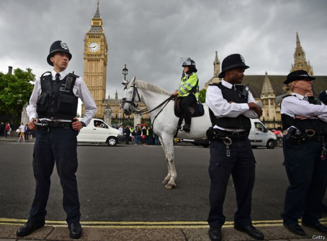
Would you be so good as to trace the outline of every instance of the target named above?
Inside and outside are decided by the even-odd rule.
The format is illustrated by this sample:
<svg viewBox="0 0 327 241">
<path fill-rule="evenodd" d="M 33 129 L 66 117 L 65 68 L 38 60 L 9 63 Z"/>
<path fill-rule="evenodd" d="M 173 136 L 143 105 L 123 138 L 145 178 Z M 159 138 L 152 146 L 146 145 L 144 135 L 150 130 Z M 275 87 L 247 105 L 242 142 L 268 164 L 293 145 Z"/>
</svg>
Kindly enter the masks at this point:
<svg viewBox="0 0 327 241">
<path fill-rule="evenodd" d="M 68 224 L 80 221 L 80 204 L 77 181 L 77 140 L 72 128 L 55 127 L 39 129 L 33 153 L 33 171 L 36 180 L 35 197 L 30 211 L 29 221 L 45 220 L 49 197 L 50 177 L 54 163 L 63 190 L 63 209 Z"/>
</svg>

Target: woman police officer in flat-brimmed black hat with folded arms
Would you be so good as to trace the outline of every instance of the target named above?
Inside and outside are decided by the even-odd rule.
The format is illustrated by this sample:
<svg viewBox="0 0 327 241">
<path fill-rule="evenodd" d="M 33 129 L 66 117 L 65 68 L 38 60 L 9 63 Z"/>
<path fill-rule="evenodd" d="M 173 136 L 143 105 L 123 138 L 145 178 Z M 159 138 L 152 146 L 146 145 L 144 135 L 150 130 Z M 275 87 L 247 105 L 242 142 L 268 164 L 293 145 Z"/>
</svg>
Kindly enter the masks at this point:
<svg viewBox="0 0 327 241">
<path fill-rule="evenodd" d="M 283 98 L 280 108 L 282 126 L 287 129 L 283 153 L 290 182 L 281 217 L 284 227 L 299 236 L 306 236 L 298 224 L 301 217 L 303 226 L 327 233 L 327 227 L 318 220 L 327 181 L 327 106 L 310 104 L 305 96 L 314 79 L 305 70 L 289 73 L 283 83 L 291 92 Z"/>
</svg>

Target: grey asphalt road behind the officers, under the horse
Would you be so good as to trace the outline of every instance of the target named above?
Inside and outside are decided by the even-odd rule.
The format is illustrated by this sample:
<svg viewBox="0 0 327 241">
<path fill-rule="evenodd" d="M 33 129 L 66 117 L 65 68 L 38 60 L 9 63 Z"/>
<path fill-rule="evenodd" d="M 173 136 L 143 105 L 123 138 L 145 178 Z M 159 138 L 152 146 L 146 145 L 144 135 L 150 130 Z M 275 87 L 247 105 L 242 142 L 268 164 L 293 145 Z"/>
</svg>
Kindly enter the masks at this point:
<svg viewBox="0 0 327 241">
<path fill-rule="evenodd" d="M 166 190 L 161 146 L 79 145 L 77 172 L 83 221 L 205 221 L 209 212 L 209 148 L 175 146 L 177 188 Z M 0 218 L 28 218 L 34 197 L 32 143 L 0 142 Z M 282 149 L 254 149 L 253 220 L 280 219 L 288 185 Z M 325 198 L 326 199 L 326 198 Z M 327 199 L 326 199 L 327 200 Z M 325 200 L 325 201 L 326 201 Z M 54 168 L 47 220 L 65 220 Z M 226 220 L 236 211 L 230 179 Z"/>
</svg>

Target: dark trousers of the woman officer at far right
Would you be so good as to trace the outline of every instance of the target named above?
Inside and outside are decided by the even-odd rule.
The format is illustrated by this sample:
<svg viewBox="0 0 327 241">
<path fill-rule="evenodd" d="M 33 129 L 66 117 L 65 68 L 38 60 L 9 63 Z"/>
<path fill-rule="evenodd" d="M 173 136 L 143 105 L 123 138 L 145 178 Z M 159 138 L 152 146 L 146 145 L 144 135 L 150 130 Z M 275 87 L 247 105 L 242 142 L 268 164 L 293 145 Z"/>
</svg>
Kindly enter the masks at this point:
<svg viewBox="0 0 327 241">
<path fill-rule="evenodd" d="M 320 158 L 322 144 L 306 141 L 291 145 L 283 141 L 285 169 L 290 185 L 287 188 L 284 223 L 298 224 L 298 218 L 307 224 L 315 224 L 322 215 L 322 200 L 327 181 L 327 160 Z"/>
</svg>

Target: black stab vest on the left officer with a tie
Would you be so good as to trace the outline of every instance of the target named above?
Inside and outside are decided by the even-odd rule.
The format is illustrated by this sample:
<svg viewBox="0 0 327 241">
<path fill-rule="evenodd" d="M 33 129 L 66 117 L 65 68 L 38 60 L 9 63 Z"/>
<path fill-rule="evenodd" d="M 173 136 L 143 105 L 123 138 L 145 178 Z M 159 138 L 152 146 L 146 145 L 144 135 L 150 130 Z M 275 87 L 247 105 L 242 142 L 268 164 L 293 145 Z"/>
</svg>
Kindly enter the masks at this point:
<svg viewBox="0 0 327 241">
<path fill-rule="evenodd" d="M 50 73 L 48 75 L 44 75 Z M 62 80 L 53 80 L 51 72 L 41 76 L 41 95 L 38 96 L 38 118 L 72 120 L 77 115 L 78 98 L 73 93 L 78 76 L 67 74 Z"/>
</svg>

